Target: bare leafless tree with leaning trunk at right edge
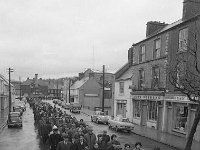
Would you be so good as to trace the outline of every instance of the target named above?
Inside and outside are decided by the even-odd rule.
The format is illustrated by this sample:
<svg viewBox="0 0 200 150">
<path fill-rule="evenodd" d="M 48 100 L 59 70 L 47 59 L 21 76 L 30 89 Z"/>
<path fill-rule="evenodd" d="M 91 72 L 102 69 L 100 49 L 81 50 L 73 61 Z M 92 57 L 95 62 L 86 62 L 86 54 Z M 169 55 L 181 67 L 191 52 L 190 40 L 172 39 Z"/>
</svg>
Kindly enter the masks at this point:
<svg viewBox="0 0 200 150">
<path fill-rule="evenodd" d="M 198 17 L 197 17 L 198 19 Z M 196 105 L 193 124 L 189 130 L 185 150 L 191 150 L 193 137 L 200 121 L 200 24 L 196 20 L 182 40 L 182 49 L 176 55 L 176 63 L 169 67 L 169 81 L 176 90 L 185 94 Z M 179 35 L 180 39 L 180 35 Z"/>
</svg>

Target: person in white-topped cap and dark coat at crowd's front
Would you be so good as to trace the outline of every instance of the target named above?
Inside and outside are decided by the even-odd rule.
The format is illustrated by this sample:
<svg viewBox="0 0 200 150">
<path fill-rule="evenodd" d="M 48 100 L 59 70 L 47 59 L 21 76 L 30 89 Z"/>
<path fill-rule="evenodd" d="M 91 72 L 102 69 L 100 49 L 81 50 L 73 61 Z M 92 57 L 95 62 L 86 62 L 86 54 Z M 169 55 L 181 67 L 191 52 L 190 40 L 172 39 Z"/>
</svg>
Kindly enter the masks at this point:
<svg viewBox="0 0 200 150">
<path fill-rule="evenodd" d="M 62 137 L 58 134 L 57 126 L 53 126 L 53 134 L 49 136 L 50 150 L 56 150 L 58 143 L 62 141 Z"/>
</svg>

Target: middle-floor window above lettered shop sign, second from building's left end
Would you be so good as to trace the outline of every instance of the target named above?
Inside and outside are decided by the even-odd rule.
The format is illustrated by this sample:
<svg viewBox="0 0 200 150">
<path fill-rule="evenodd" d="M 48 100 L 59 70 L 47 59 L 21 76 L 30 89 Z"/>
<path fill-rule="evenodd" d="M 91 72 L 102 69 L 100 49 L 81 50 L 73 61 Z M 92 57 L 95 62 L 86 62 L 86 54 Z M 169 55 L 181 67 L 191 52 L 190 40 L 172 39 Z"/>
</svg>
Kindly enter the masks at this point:
<svg viewBox="0 0 200 150">
<path fill-rule="evenodd" d="M 152 88 L 159 88 L 160 69 L 158 66 L 152 68 Z"/>
</svg>

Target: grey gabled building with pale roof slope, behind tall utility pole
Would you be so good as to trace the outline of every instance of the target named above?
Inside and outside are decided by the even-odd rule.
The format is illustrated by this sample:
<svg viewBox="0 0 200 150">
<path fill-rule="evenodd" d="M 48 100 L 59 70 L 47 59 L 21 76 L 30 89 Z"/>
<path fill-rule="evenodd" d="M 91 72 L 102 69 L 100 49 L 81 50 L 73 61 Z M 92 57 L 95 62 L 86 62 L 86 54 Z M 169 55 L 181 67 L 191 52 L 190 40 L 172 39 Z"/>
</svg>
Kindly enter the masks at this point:
<svg viewBox="0 0 200 150">
<path fill-rule="evenodd" d="M 109 115 L 113 115 L 114 75 L 105 73 L 104 81 L 104 110 Z M 102 109 L 102 82 L 103 73 L 94 72 L 91 69 L 79 73 L 79 80 L 70 87 L 70 102 L 78 102 L 82 107 L 91 110 Z"/>
</svg>

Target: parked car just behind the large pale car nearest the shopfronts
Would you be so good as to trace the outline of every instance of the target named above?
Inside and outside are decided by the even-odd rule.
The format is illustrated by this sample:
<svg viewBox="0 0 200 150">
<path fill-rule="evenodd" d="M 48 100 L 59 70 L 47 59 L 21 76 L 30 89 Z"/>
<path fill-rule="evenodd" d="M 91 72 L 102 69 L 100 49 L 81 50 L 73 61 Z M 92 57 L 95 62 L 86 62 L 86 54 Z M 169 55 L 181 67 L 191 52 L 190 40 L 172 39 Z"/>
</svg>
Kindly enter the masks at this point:
<svg viewBox="0 0 200 150">
<path fill-rule="evenodd" d="M 96 123 L 108 124 L 109 119 L 111 119 L 111 117 L 105 115 L 102 111 L 95 111 L 94 115 L 91 116 L 91 121 Z"/>
</svg>

